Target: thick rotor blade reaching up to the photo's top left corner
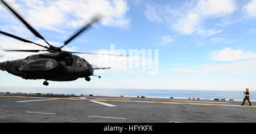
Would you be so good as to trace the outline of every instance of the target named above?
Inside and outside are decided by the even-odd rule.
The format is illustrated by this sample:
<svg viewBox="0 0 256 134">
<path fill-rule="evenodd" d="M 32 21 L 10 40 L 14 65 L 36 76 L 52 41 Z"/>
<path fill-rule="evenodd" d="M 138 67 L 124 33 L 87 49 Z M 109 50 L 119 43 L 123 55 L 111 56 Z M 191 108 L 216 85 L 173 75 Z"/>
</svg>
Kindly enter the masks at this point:
<svg viewBox="0 0 256 134">
<path fill-rule="evenodd" d="M 32 33 L 35 34 L 36 37 L 41 38 L 42 40 L 44 40 L 44 41 L 49 45 L 49 43 L 48 43 L 38 32 L 36 32 L 35 29 L 32 28 L 19 14 L 17 14 L 17 13 L 13 10 L 13 8 L 11 8 L 9 5 L 7 5 L 7 3 L 5 3 L 5 1 L 3 1 L 3 0 L 1 0 L 1 1 L 3 2 L 3 4 L 4 4 L 6 7 L 9 8 L 9 10 L 11 10 L 11 12 L 13 12 L 13 14 L 14 14 L 20 21 L 22 21 L 22 23 L 23 23 L 24 25 L 26 25 L 26 27 L 27 27 L 28 29 L 30 29 L 30 31 L 31 31 Z M 51 46 L 51 45 L 49 45 L 49 46 Z"/>
</svg>

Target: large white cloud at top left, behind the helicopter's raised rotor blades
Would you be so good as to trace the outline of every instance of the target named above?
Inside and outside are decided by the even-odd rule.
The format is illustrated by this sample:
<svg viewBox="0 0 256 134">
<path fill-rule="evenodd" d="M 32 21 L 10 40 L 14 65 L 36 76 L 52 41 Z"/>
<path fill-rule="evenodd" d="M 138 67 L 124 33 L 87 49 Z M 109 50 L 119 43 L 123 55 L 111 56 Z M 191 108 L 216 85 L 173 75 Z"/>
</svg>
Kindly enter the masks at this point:
<svg viewBox="0 0 256 134">
<path fill-rule="evenodd" d="M 111 27 L 127 28 L 131 21 L 126 16 L 129 6 L 125 0 L 18 0 L 8 3 L 32 26 L 57 32 L 63 32 L 61 28 L 80 27 L 98 14 L 104 16 L 101 24 Z M 6 11 L 1 8 L 1 12 Z"/>
</svg>

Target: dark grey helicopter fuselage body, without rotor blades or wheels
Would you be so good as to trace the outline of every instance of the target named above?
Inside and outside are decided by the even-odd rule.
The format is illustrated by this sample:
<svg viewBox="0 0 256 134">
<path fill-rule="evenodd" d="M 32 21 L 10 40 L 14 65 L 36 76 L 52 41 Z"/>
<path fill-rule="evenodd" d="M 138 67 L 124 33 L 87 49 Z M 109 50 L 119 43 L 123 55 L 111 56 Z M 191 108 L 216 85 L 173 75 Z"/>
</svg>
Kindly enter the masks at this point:
<svg viewBox="0 0 256 134">
<path fill-rule="evenodd" d="M 92 65 L 77 55 L 45 53 L 0 63 L 0 70 L 23 79 L 73 81 L 93 75 Z"/>
</svg>

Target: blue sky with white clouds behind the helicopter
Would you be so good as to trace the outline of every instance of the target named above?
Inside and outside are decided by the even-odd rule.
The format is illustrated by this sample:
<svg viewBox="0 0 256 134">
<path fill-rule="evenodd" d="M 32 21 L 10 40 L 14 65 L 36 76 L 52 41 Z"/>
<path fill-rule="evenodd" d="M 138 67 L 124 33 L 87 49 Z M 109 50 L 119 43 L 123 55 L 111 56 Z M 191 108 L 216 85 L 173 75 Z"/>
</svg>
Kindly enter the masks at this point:
<svg viewBox="0 0 256 134">
<path fill-rule="evenodd" d="M 113 69 L 96 71 L 101 79 L 50 81 L 50 87 L 256 90 L 256 0 L 7 2 L 56 46 L 61 46 L 93 16 L 104 15 L 100 24 L 77 37 L 65 50 L 118 53 L 110 51 L 110 45 L 114 45 L 115 50 L 126 52 L 152 50 L 152 60 L 154 50 L 159 51 L 159 59 L 153 66 L 158 71 L 154 75 L 149 75 L 142 66 L 130 70 L 113 63 L 126 59 L 79 55 L 97 66 Z M 44 44 L 3 5 L 0 12 L 1 31 Z M 1 49 L 41 49 L 2 35 L 0 46 Z M 3 62 L 31 53 L 0 51 L 0 55 Z M 44 87 L 43 80 L 24 80 L 2 71 L 0 80 L 0 86 Z"/>
</svg>

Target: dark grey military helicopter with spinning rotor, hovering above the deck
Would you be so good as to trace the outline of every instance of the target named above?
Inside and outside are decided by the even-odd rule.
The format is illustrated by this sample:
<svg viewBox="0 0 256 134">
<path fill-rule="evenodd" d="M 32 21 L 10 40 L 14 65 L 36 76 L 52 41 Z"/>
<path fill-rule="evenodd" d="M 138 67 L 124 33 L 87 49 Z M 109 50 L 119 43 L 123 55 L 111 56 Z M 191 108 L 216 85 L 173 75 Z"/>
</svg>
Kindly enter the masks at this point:
<svg viewBox="0 0 256 134">
<path fill-rule="evenodd" d="M 67 45 L 80 33 L 84 32 L 86 29 L 92 27 L 100 17 L 96 16 L 89 24 L 82 27 L 77 33 L 70 37 L 64 42 L 61 47 L 56 47 L 50 45 L 38 32 L 35 31 L 20 15 L 18 15 L 7 3 L 1 0 L 3 5 L 5 5 L 13 14 L 20 20 L 26 27 L 34 33 L 34 35 L 42 40 L 44 40 L 49 46 L 43 46 L 32 41 L 28 41 L 24 38 L 14 36 L 6 32 L 0 31 L 0 33 L 6 36 L 15 38 L 19 41 L 35 44 L 44 47 L 46 50 L 5 50 L 5 51 L 21 51 L 21 52 L 39 52 L 48 51 L 49 53 L 30 55 L 24 59 L 11 60 L 6 62 L 0 62 L 0 70 L 7 71 L 15 76 L 22 77 L 23 79 L 44 79 L 43 85 L 48 85 L 47 80 L 50 81 L 73 81 L 78 78 L 85 78 L 86 81 L 90 81 L 89 76 L 93 75 L 94 70 L 109 69 L 110 67 L 96 67 L 93 68 L 92 64 L 89 64 L 85 59 L 78 57 L 73 54 L 97 54 L 97 53 L 80 53 L 72 51 L 63 51 L 62 47 Z M 102 54 L 102 55 L 115 55 L 123 56 L 119 54 Z M 101 78 L 101 76 L 98 76 Z"/>
</svg>

